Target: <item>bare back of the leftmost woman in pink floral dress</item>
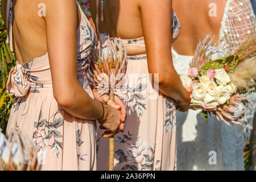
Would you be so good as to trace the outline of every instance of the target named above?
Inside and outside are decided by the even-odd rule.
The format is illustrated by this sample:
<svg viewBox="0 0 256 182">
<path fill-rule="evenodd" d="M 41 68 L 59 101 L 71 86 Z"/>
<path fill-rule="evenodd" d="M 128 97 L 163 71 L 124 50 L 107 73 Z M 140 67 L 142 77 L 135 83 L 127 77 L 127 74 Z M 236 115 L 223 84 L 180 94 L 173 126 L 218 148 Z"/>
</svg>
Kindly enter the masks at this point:
<svg viewBox="0 0 256 182">
<path fill-rule="evenodd" d="M 14 52 L 20 64 L 47 52 L 44 1 L 14 0 L 13 37 Z M 2 17 L 6 24 L 7 0 L 2 0 Z M 45 7 L 46 8 L 46 7 Z M 80 14 L 77 15 L 80 17 Z"/>
</svg>

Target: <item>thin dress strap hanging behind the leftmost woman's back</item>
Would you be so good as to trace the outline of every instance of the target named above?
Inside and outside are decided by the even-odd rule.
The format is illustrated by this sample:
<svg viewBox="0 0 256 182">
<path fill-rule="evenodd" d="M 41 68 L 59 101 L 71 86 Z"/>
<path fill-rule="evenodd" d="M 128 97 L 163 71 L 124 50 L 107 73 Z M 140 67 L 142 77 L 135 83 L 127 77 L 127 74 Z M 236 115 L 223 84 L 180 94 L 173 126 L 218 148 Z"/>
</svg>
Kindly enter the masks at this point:
<svg viewBox="0 0 256 182">
<path fill-rule="evenodd" d="M 6 27 L 7 27 L 6 43 L 10 43 L 10 51 L 13 52 L 13 0 L 7 0 Z"/>
</svg>

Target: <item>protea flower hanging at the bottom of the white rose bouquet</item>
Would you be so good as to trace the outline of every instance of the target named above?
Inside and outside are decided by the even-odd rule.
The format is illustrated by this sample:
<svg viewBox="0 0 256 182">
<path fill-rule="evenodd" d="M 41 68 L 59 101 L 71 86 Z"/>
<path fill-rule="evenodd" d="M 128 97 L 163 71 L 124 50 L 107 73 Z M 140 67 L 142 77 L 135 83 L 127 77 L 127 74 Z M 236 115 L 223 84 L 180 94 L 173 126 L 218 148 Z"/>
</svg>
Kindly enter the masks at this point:
<svg viewBox="0 0 256 182">
<path fill-rule="evenodd" d="M 229 104 L 218 106 L 217 110 L 213 111 L 213 115 L 218 121 L 221 119 L 229 126 L 229 123 L 241 125 L 242 122 L 247 122 L 245 109 L 249 104 L 250 100 L 247 97 L 234 94 L 230 97 Z"/>
</svg>

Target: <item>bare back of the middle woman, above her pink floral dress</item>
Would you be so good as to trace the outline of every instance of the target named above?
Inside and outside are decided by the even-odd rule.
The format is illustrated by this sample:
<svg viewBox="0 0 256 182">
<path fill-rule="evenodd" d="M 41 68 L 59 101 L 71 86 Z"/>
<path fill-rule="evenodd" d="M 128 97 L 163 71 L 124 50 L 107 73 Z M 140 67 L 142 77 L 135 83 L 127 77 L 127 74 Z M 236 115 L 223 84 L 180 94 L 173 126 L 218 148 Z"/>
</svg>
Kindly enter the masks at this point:
<svg viewBox="0 0 256 182">
<path fill-rule="evenodd" d="M 90 9 L 93 20 L 96 22 L 97 5 L 96 0 L 90 0 Z M 101 17 L 101 6 L 98 6 L 99 17 Z M 141 38 L 142 24 L 141 13 L 137 0 L 108 0 L 104 1 L 104 22 L 99 18 L 99 30 L 108 32 L 122 39 Z"/>
</svg>

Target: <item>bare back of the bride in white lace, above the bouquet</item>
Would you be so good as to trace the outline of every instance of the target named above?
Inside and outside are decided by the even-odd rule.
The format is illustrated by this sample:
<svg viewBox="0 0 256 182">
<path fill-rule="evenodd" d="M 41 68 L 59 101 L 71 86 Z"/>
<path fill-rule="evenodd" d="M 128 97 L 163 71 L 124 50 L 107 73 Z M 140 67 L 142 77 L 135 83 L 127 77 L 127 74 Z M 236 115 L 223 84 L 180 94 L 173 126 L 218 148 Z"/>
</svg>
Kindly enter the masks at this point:
<svg viewBox="0 0 256 182">
<path fill-rule="evenodd" d="M 193 3 L 191 2 L 191 0 L 172 2 L 181 24 L 179 39 L 172 44 L 172 47 L 180 55 L 192 56 L 199 40 L 203 40 L 209 33 L 216 35 L 214 42 L 218 41 L 226 5 L 226 0 L 193 0 Z M 216 10 L 216 16 L 214 16 L 214 10 Z"/>
</svg>

